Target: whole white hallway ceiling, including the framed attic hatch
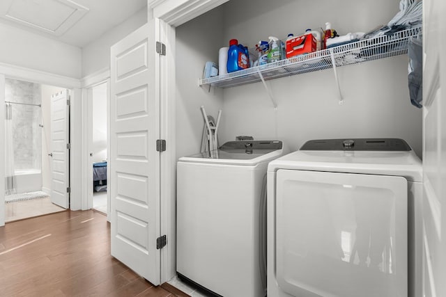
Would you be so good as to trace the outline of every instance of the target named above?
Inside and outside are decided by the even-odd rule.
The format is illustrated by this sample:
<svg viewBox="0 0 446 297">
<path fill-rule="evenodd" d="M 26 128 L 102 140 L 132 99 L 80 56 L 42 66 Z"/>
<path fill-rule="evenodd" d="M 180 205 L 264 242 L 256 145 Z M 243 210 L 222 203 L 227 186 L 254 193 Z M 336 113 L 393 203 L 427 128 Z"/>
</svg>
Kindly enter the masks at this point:
<svg viewBox="0 0 446 297">
<path fill-rule="evenodd" d="M 0 23 L 84 47 L 147 6 L 147 0 L 1 0 Z"/>
</svg>

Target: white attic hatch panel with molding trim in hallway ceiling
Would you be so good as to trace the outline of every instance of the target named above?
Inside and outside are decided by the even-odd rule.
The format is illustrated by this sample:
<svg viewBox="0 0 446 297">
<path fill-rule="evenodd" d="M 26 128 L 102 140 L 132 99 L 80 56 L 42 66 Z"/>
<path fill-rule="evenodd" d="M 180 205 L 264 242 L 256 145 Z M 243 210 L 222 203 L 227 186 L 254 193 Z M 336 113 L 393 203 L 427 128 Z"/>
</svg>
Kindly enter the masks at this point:
<svg viewBox="0 0 446 297">
<path fill-rule="evenodd" d="M 82 19 L 89 8 L 71 0 L 2 0 L 0 17 L 60 36 Z"/>
</svg>

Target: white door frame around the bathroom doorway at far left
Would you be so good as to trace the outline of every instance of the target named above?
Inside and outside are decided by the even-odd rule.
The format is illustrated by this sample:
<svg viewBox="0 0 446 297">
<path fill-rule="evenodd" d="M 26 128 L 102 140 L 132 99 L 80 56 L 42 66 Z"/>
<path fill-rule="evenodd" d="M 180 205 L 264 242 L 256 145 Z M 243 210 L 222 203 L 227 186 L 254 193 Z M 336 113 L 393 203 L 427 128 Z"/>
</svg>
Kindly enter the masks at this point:
<svg viewBox="0 0 446 297">
<path fill-rule="evenodd" d="M 43 72 L 39 70 L 33 70 L 31 68 L 20 67 L 16 65 L 10 65 L 7 63 L 0 63 L 0 83 L 4 86 L 5 77 L 9 79 L 17 79 L 21 81 L 29 81 L 33 83 L 40 83 L 49 86 L 57 86 L 60 88 L 66 88 L 70 90 L 71 104 L 70 104 L 70 209 L 79 210 L 81 209 L 81 193 L 80 193 L 80 164 L 79 164 L 79 147 L 81 145 L 81 131 L 77 127 L 81 127 L 82 124 L 82 114 L 80 113 L 80 105 L 82 102 L 81 97 L 81 82 L 79 79 L 74 79 L 72 77 L 64 77 L 59 74 L 53 74 L 49 72 Z M 4 94 L 3 94 L 4 96 Z M 3 97 L 2 96 L 2 97 Z M 0 107 L 3 110 L 4 107 Z M 3 115 L 3 113 L 2 113 Z M 0 116 L 1 118 L 1 116 Z M 4 131 L 4 120 L 0 120 L 0 130 Z M 0 136 L 3 132 L 0 132 Z M 0 152 L 4 152 L 4 143 L 0 142 Z M 0 158 L 0 168 L 4 166 L 4 158 Z M 1 170 L 0 170 L 1 171 Z M 0 172 L 0 180 L 4 180 L 4 172 Z M 0 190 L 1 190 L 0 186 Z M 5 224 L 4 220 L 4 191 L 0 191 L 0 226 Z"/>
</svg>

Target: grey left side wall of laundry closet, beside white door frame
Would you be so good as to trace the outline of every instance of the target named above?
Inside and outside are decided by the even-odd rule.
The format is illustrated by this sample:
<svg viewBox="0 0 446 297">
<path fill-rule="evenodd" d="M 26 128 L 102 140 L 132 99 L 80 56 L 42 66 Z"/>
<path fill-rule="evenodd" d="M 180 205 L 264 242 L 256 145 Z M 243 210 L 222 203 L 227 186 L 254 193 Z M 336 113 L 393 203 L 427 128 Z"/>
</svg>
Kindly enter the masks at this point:
<svg viewBox="0 0 446 297">
<path fill-rule="evenodd" d="M 218 62 L 223 38 L 222 10 L 217 8 L 176 28 L 176 155 L 200 151 L 203 117 L 200 106 L 216 119 L 223 91 L 199 88 L 206 61 Z M 217 56 L 215 56 L 217 53 Z M 226 115 L 223 113 L 222 118 Z"/>
</svg>

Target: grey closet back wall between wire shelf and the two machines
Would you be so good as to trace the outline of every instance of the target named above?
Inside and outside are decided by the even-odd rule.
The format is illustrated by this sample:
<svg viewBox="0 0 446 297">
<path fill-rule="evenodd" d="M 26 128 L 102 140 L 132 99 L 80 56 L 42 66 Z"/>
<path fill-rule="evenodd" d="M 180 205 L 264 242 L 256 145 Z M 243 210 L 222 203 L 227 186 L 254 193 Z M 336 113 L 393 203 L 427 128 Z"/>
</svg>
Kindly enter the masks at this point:
<svg viewBox="0 0 446 297">
<path fill-rule="evenodd" d="M 271 82 L 277 111 L 260 83 L 226 89 L 224 140 L 252 135 L 298 150 L 310 139 L 395 137 L 422 156 L 422 115 L 408 99 L 406 56 L 342 67 L 339 77 L 343 105 L 331 71 Z"/>
</svg>

